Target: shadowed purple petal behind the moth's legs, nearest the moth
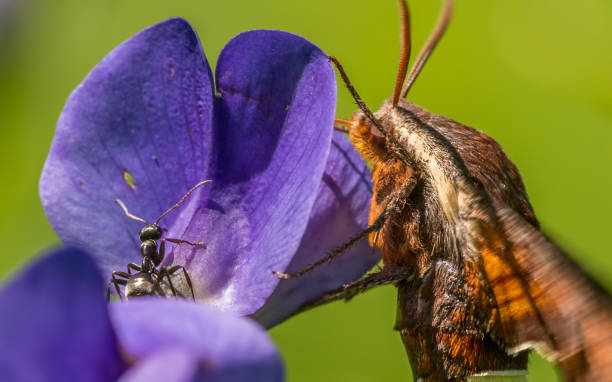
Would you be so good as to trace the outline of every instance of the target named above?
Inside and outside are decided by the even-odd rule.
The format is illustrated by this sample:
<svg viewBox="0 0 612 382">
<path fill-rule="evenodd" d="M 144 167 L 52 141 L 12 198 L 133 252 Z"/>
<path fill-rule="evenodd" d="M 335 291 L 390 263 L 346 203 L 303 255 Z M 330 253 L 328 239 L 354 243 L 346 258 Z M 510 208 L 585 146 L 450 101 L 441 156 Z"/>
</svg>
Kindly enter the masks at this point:
<svg viewBox="0 0 612 382">
<path fill-rule="evenodd" d="M 335 132 L 323 182 L 300 249 L 287 268 L 297 272 L 324 257 L 368 226 L 371 174 L 348 138 Z M 302 277 L 282 280 L 253 318 L 270 328 L 322 293 L 357 280 L 380 261 L 367 239 L 334 261 Z"/>
</svg>

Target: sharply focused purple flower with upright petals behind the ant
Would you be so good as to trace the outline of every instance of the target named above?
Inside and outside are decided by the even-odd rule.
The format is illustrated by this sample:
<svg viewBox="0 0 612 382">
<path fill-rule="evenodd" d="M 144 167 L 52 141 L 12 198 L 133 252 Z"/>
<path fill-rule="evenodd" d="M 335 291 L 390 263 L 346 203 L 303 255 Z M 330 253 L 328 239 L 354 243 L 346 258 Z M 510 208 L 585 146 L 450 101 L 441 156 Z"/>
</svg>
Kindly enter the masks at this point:
<svg viewBox="0 0 612 382">
<path fill-rule="evenodd" d="M 216 87 L 200 42 L 170 19 L 124 42 L 72 93 L 40 181 L 51 225 L 91 253 L 105 275 L 139 263 L 141 223 L 162 220 L 165 265 L 188 270 L 196 298 L 266 326 L 323 291 L 355 280 L 378 257 L 363 241 L 311 275 L 312 263 L 365 228 L 365 163 L 334 133 L 336 84 L 326 55 L 280 31 L 245 32 L 221 52 Z M 273 296 L 270 298 L 270 296 Z M 268 302 L 266 304 L 266 302 Z"/>
</svg>

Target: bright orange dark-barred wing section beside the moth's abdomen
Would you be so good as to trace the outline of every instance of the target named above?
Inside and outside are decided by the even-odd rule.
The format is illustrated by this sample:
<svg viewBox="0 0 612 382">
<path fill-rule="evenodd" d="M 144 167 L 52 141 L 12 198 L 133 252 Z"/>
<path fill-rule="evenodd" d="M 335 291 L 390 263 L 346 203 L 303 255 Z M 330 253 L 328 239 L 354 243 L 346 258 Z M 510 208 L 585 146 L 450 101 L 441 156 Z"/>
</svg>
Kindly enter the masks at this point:
<svg viewBox="0 0 612 382">
<path fill-rule="evenodd" d="M 472 211 L 471 216 L 462 219 L 460 237 L 466 242 L 462 245 L 467 250 L 465 280 L 478 307 L 478 319 L 486 323 L 491 337 L 509 354 L 536 348 L 547 358 L 555 359 L 557 344 L 538 308 L 546 305 L 542 301 L 545 294 L 525 277 L 526 266 L 514 255 L 514 246 L 494 210 Z M 553 306 L 547 317 L 557 319 L 559 314 L 560 310 Z"/>
</svg>

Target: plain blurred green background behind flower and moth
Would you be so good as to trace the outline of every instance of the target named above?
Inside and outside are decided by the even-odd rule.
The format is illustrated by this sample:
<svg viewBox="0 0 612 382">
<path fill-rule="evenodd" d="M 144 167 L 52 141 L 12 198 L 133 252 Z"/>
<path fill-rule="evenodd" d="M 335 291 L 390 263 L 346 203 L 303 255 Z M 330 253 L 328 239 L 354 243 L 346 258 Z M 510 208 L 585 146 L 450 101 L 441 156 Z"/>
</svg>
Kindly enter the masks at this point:
<svg viewBox="0 0 612 382">
<path fill-rule="evenodd" d="M 0 5 L 7 0 L 0 0 Z M 21 0 L 0 7 L 0 276 L 57 237 L 38 178 L 70 91 L 115 45 L 182 16 L 211 65 L 241 31 L 283 29 L 337 56 L 370 107 L 390 96 L 398 57 L 395 1 Z M 612 216 L 612 2 L 458 0 L 410 99 L 496 138 L 518 165 L 544 229 L 608 290 Z M 411 1 L 415 49 L 440 1 Z M 341 87 L 339 117 L 354 104 Z M 3 307 L 9 309 L 9 307 Z M 385 287 L 271 331 L 289 381 L 411 380 Z M 531 381 L 556 380 L 531 358 Z"/>
</svg>

